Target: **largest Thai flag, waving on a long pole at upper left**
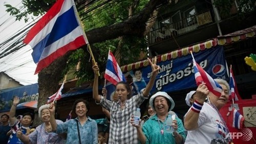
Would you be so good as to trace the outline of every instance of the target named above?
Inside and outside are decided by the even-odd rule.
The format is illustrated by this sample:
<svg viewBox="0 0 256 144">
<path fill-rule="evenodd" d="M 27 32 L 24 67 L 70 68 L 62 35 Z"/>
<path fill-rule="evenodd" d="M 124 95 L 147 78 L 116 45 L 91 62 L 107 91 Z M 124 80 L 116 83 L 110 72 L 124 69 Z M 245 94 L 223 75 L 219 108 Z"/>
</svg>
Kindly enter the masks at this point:
<svg viewBox="0 0 256 144">
<path fill-rule="evenodd" d="M 87 44 L 73 0 L 58 0 L 31 28 L 24 43 L 33 48 L 35 74 L 69 50 Z"/>
</svg>

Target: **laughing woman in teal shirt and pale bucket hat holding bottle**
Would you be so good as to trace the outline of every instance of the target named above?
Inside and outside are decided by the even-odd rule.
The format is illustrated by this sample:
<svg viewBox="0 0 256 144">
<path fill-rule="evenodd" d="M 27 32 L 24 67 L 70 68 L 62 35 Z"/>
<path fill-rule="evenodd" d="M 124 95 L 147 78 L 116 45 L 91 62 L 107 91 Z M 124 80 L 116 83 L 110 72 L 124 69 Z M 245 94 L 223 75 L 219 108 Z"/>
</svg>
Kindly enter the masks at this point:
<svg viewBox="0 0 256 144">
<path fill-rule="evenodd" d="M 156 111 L 156 114 L 148 119 L 142 129 L 133 124 L 132 116 L 131 123 L 137 129 L 138 139 L 141 143 L 183 143 L 186 134 L 182 121 L 175 117 L 172 127 L 173 133 L 167 132 L 166 120 L 168 118 L 168 111 L 175 106 L 173 99 L 165 92 L 157 92 L 150 98 L 150 105 Z M 176 115 L 175 115 L 176 116 Z"/>
</svg>

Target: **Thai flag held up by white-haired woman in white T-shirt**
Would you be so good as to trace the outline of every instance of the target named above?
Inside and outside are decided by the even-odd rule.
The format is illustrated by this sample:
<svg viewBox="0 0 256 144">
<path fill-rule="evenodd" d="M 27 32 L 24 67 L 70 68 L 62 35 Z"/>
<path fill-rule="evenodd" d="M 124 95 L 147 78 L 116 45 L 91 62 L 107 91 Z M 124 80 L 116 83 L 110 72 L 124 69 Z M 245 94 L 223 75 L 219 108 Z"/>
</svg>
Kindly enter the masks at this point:
<svg viewBox="0 0 256 144">
<path fill-rule="evenodd" d="M 192 52 L 191 55 L 193 58 L 193 66 L 197 86 L 204 82 L 206 87 L 212 94 L 216 95 L 217 97 L 220 97 L 222 93 L 221 85 L 217 83 L 212 77 L 210 77 L 210 75 L 207 72 L 205 72 L 204 69 L 200 67 L 200 65 L 196 63 Z"/>
</svg>

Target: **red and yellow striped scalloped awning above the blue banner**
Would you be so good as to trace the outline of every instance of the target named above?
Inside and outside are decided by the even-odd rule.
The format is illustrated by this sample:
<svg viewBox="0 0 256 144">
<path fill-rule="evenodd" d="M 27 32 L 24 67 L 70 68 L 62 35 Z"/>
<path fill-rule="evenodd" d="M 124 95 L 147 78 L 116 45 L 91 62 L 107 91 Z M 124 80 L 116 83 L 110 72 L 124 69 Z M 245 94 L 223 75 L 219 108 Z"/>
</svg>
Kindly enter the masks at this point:
<svg viewBox="0 0 256 144">
<path fill-rule="evenodd" d="M 164 62 L 166 60 L 176 59 L 177 57 L 185 56 L 185 55 L 189 54 L 189 51 L 199 52 L 199 51 L 203 51 L 205 49 L 209 49 L 209 48 L 217 46 L 217 45 L 228 45 L 228 44 L 238 42 L 241 40 L 245 40 L 248 38 L 252 38 L 255 36 L 256 36 L 256 25 L 246 28 L 241 31 L 237 31 L 237 32 L 228 34 L 228 35 L 219 36 L 217 38 L 213 38 L 213 39 L 207 40 L 202 43 L 198 43 L 198 44 L 195 44 L 192 46 L 184 47 L 184 48 L 181 48 L 178 50 L 174 50 L 172 52 L 158 55 L 157 62 L 162 62 L 162 61 Z M 127 71 L 131 71 L 133 69 L 138 69 L 138 68 L 146 67 L 146 66 L 148 66 L 148 61 L 142 60 L 142 61 L 138 61 L 133 64 L 122 66 L 121 70 L 122 70 L 122 72 L 127 72 Z"/>
</svg>

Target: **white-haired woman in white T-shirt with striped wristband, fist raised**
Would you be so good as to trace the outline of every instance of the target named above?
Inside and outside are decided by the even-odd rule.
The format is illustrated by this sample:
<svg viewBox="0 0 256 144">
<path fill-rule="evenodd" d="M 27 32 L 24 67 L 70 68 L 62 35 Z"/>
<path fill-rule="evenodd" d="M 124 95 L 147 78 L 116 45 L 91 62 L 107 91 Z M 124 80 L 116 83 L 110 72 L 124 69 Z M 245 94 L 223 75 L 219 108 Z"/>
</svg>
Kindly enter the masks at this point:
<svg viewBox="0 0 256 144">
<path fill-rule="evenodd" d="M 228 128 L 219 110 L 227 103 L 229 85 L 223 79 L 215 79 L 222 87 L 220 97 L 209 92 L 204 83 L 196 92 L 196 101 L 185 115 L 184 126 L 188 131 L 185 143 L 229 143 Z M 208 96 L 208 102 L 204 102 Z"/>
</svg>

